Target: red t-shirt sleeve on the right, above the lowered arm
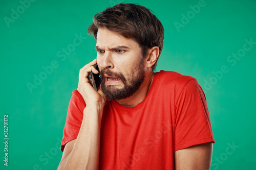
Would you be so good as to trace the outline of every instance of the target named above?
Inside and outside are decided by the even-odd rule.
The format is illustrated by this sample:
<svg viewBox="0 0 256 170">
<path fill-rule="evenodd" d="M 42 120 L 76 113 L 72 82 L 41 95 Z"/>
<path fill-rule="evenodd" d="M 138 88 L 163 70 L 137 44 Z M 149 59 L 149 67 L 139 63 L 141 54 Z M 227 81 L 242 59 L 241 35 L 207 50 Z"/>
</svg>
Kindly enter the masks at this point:
<svg viewBox="0 0 256 170">
<path fill-rule="evenodd" d="M 174 151 L 191 145 L 214 142 L 203 89 L 191 79 L 183 87 L 175 105 Z"/>
</svg>

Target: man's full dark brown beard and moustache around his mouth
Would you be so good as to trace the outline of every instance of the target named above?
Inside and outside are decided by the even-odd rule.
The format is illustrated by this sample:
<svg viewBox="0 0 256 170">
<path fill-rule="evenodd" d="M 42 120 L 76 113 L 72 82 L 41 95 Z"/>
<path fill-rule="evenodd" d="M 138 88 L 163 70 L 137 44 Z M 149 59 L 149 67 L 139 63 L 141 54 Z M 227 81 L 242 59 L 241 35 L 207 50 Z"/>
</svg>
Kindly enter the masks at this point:
<svg viewBox="0 0 256 170">
<path fill-rule="evenodd" d="M 145 79 L 144 60 L 134 66 L 134 70 L 131 70 L 130 74 L 124 77 L 121 72 L 113 72 L 110 68 L 103 68 L 100 71 L 101 76 L 101 90 L 109 100 L 120 100 L 129 98 L 132 96 L 141 86 Z M 122 88 L 117 88 L 115 85 L 106 85 L 106 77 L 104 74 L 110 77 L 116 77 L 123 83 Z"/>
</svg>

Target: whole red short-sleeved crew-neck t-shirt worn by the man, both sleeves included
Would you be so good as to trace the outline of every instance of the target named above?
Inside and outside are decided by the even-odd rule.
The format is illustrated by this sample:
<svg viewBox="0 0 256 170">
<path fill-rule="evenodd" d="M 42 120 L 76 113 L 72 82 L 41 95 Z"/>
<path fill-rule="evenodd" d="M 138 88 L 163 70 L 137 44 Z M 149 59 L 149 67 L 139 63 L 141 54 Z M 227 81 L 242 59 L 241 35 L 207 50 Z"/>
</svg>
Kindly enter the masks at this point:
<svg viewBox="0 0 256 170">
<path fill-rule="evenodd" d="M 77 138 L 86 107 L 75 90 L 61 151 Z M 204 92 L 197 80 L 174 71 L 156 72 L 146 98 L 135 107 L 104 106 L 99 169 L 174 169 L 174 152 L 215 142 Z"/>
</svg>

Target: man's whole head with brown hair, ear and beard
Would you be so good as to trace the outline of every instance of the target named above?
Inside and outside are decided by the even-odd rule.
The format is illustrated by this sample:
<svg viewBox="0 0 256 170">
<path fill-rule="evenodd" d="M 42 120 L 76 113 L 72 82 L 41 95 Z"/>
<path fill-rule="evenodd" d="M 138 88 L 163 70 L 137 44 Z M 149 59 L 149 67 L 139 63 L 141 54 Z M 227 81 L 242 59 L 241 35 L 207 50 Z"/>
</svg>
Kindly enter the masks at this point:
<svg viewBox="0 0 256 170">
<path fill-rule="evenodd" d="M 126 99 L 148 87 L 164 37 L 161 22 L 150 10 L 135 4 L 107 8 L 95 15 L 88 33 L 97 40 L 101 89 L 107 98 Z"/>
</svg>

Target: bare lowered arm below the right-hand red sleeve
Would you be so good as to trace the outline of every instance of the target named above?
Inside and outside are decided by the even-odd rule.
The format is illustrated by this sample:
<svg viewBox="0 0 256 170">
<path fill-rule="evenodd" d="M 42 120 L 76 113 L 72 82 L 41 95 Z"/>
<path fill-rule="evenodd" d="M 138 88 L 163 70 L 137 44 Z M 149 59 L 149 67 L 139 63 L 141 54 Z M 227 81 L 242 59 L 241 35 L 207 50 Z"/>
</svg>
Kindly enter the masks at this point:
<svg viewBox="0 0 256 170">
<path fill-rule="evenodd" d="M 212 142 L 193 145 L 174 152 L 176 170 L 210 169 Z"/>
</svg>

